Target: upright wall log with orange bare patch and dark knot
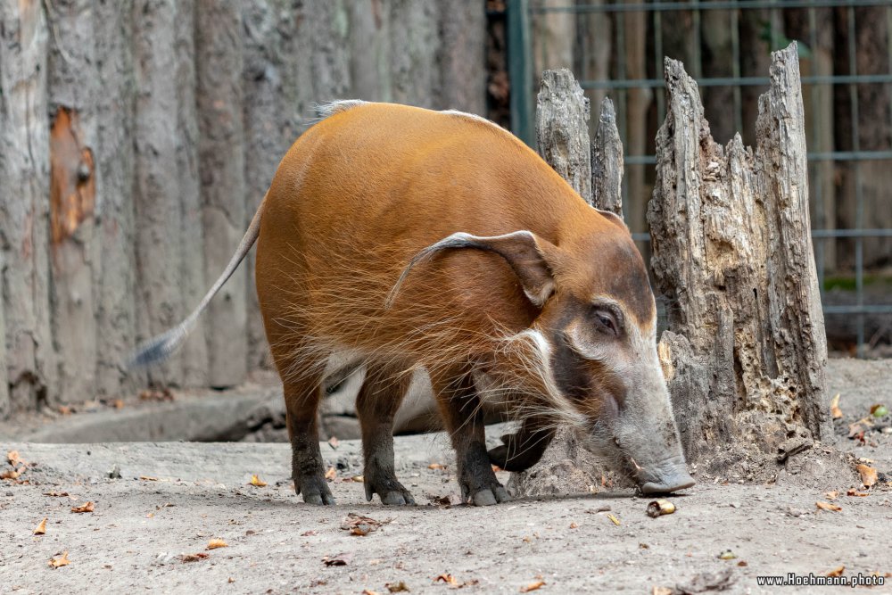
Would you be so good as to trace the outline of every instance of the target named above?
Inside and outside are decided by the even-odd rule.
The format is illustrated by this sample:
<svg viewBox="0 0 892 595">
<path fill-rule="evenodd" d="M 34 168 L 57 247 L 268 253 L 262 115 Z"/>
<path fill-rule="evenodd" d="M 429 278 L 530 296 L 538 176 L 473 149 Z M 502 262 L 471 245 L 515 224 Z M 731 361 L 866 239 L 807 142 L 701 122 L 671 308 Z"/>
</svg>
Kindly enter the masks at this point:
<svg viewBox="0 0 892 595">
<path fill-rule="evenodd" d="M 89 0 L 45 4 L 50 36 L 51 318 L 59 381 L 54 401 L 94 396 L 95 281 L 102 267 L 95 226 L 97 144 L 94 19 Z M 96 277 L 96 279 L 94 278 Z"/>
</svg>

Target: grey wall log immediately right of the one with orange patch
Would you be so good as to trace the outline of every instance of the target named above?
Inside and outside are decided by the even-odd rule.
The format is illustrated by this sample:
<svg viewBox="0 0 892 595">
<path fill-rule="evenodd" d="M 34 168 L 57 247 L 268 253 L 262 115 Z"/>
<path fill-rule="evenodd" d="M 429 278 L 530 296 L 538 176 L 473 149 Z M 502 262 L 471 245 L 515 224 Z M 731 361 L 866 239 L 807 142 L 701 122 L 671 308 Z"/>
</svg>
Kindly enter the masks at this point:
<svg viewBox="0 0 892 595">
<path fill-rule="evenodd" d="M 102 266 L 95 273 L 95 393 L 114 396 L 145 384 L 145 372 L 122 360 L 136 346 L 134 183 L 134 49 L 132 0 L 95 3 L 96 198 Z"/>
</svg>

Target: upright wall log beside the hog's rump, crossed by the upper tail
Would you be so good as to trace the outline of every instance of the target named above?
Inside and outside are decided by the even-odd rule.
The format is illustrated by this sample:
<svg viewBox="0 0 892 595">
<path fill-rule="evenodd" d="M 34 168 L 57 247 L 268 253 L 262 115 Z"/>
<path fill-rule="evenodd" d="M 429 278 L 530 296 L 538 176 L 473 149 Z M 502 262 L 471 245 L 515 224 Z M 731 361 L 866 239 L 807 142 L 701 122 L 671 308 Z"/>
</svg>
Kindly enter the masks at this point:
<svg viewBox="0 0 892 595">
<path fill-rule="evenodd" d="M 235 0 L 202 0 L 195 10 L 204 276 L 210 281 L 235 252 L 247 217 L 242 16 Z M 205 314 L 211 386 L 232 386 L 247 374 L 245 293 L 245 271 L 238 269 Z"/>
</svg>

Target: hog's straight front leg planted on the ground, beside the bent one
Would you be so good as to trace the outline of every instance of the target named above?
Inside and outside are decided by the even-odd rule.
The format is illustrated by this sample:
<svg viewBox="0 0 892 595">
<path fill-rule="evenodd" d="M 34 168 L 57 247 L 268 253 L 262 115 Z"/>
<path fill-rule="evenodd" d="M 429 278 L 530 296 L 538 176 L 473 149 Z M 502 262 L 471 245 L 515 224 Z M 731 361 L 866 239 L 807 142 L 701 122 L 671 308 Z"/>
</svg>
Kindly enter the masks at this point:
<svg viewBox="0 0 892 595">
<path fill-rule="evenodd" d="M 480 399 L 469 370 L 455 368 L 431 375 L 437 403 L 450 433 L 458 464 L 462 499 L 475 506 L 511 500 L 492 472 Z"/>
</svg>

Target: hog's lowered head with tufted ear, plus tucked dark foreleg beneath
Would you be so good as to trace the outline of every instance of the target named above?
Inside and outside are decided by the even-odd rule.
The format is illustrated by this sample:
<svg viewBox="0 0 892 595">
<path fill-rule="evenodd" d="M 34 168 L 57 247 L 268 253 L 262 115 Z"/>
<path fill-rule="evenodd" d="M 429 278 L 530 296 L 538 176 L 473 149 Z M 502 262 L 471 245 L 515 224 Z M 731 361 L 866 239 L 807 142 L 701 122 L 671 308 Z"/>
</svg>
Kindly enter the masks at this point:
<svg viewBox="0 0 892 595">
<path fill-rule="evenodd" d="M 622 220 L 597 213 L 595 232 L 557 244 L 524 230 L 486 237 L 457 233 L 413 263 L 444 249 L 498 253 L 540 309 L 528 329 L 508 339 L 508 351 L 524 353 L 516 374 L 536 376 L 539 414 L 506 437 L 516 440 L 513 447 L 507 443 L 491 452 L 495 462 L 509 470 L 531 466 L 548 442 L 552 420 L 560 419 L 587 436 L 591 450 L 621 460 L 642 492 L 682 490 L 694 480 L 657 357 L 648 272 Z"/>
</svg>

